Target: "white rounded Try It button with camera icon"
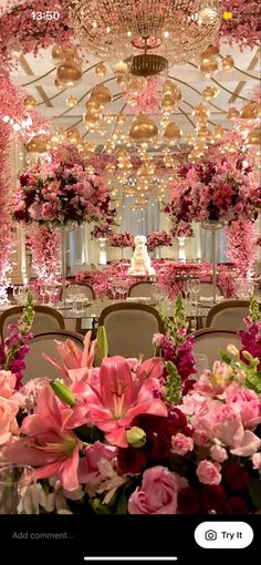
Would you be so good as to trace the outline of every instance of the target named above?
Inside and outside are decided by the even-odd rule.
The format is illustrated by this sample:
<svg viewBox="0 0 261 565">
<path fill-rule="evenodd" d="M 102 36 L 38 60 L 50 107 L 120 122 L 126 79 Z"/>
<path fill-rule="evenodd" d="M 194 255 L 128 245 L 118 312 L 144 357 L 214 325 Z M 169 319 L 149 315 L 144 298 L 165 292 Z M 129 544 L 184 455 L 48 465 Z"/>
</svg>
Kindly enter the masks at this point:
<svg viewBox="0 0 261 565">
<path fill-rule="evenodd" d="M 241 549 L 252 543 L 253 531 L 246 522 L 202 522 L 195 540 L 205 549 Z"/>
</svg>

